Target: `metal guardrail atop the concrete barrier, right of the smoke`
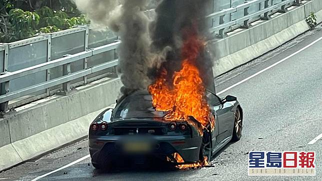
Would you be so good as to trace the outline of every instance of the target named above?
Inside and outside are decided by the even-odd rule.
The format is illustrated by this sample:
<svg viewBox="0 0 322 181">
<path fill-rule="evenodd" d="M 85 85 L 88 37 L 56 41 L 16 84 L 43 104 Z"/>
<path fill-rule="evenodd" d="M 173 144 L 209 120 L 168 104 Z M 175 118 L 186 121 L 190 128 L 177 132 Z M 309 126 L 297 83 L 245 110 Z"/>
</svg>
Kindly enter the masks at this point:
<svg viewBox="0 0 322 181">
<path fill-rule="evenodd" d="M 274 0 L 250 0 L 243 4 L 233 6 L 227 9 L 222 9 L 218 12 L 214 12 L 206 16 L 206 18 L 212 18 L 212 27 L 209 29 L 211 33 L 216 33 L 217 37 L 222 38 L 225 36 L 225 32 L 231 31 L 237 28 L 248 28 L 249 23 L 262 19 L 268 20 L 270 15 L 277 10 L 279 12 L 286 12 L 286 8 L 292 5 L 299 6 L 302 0 L 281 0 L 275 3 Z M 231 4 L 230 4 L 231 5 Z M 248 13 L 248 9 L 251 6 L 259 5 L 257 12 Z M 231 19 L 232 13 L 243 10 L 243 16 L 237 19 Z M 224 20 L 229 15 L 229 20 Z M 214 25 L 216 18 L 219 18 L 219 24 Z"/>
</svg>

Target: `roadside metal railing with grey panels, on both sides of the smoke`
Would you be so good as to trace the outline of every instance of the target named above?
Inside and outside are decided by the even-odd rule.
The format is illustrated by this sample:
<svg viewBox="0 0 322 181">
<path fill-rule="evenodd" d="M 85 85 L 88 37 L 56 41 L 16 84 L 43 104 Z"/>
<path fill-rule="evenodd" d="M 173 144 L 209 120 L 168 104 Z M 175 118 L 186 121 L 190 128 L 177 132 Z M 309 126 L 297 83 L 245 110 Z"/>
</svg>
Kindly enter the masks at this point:
<svg viewBox="0 0 322 181">
<path fill-rule="evenodd" d="M 255 20 L 268 20 L 274 12 L 286 12 L 287 7 L 300 5 L 300 1 L 245 1 L 209 14 L 209 30 L 218 37 L 223 37 L 227 31 L 247 28 Z M 254 12 L 249 13 L 250 7 L 258 7 L 258 10 L 252 8 Z M 241 15 L 240 11 L 243 12 Z M 79 26 L 0 44 L 0 112 L 57 91 L 68 94 L 72 87 L 87 84 L 89 76 L 92 80 L 106 77 L 110 72 L 115 76 L 115 66 L 118 64 L 115 49 L 119 42 L 115 42 L 117 37 L 112 36 L 114 39 L 111 38 L 111 41 L 90 47 L 93 43 L 89 42 L 93 41 L 91 39 L 100 40 L 101 37 L 102 35 L 93 38 L 89 26 Z M 98 57 L 93 58 L 95 56 Z M 110 58 L 106 59 L 106 56 Z M 110 68 L 111 71 L 106 71 Z"/>
</svg>

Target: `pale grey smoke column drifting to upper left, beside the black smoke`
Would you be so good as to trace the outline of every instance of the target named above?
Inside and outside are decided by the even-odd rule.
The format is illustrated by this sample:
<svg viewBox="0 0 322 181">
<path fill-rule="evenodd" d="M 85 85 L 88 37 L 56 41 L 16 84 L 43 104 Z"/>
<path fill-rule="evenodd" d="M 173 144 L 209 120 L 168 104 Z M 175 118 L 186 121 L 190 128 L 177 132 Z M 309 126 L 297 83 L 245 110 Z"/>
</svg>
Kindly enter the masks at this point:
<svg viewBox="0 0 322 181">
<path fill-rule="evenodd" d="M 92 23 L 108 26 L 120 36 L 118 71 L 124 85 L 121 89 L 123 94 L 146 89 L 151 83 L 147 72 L 154 58 L 149 51 L 149 20 L 142 12 L 147 2 L 148 0 L 76 0 L 76 5 L 88 14 Z"/>
</svg>

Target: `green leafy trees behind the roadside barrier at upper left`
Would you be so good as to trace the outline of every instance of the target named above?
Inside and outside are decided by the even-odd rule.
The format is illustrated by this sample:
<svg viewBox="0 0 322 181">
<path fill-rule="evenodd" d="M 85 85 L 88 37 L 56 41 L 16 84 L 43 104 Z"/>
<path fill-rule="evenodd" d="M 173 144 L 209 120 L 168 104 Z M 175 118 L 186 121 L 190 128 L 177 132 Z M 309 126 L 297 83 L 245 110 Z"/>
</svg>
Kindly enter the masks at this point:
<svg viewBox="0 0 322 181">
<path fill-rule="evenodd" d="M 0 0 L 0 42 L 88 23 L 70 0 Z"/>
</svg>

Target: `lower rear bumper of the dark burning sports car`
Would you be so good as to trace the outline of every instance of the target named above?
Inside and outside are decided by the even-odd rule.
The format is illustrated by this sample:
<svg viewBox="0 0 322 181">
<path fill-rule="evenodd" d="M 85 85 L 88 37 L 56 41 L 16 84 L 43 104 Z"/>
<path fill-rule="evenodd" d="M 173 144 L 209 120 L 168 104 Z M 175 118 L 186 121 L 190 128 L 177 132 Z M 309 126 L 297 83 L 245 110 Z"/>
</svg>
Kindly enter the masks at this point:
<svg viewBox="0 0 322 181">
<path fill-rule="evenodd" d="M 122 144 L 121 140 L 126 138 L 128 137 L 90 137 L 89 153 L 92 163 L 101 164 L 102 162 L 109 162 L 116 158 L 127 158 L 129 155 L 125 154 L 120 148 L 120 145 Z M 131 136 L 131 141 L 134 140 L 136 140 L 136 138 Z M 173 158 L 173 155 L 174 153 L 178 153 L 183 159 L 184 163 L 195 163 L 199 161 L 201 137 L 190 138 L 190 136 L 153 136 L 149 137 L 148 140 L 152 141 L 153 147 L 148 153 L 140 154 L 142 156 L 159 158 L 161 160 L 166 160 L 169 158 L 172 160 L 172 162 L 176 163 L 176 159 Z"/>
</svg>

